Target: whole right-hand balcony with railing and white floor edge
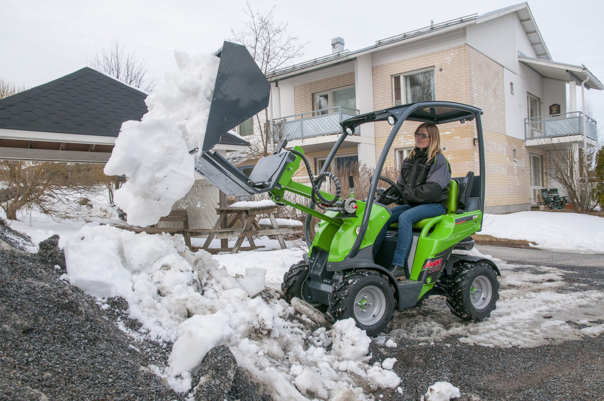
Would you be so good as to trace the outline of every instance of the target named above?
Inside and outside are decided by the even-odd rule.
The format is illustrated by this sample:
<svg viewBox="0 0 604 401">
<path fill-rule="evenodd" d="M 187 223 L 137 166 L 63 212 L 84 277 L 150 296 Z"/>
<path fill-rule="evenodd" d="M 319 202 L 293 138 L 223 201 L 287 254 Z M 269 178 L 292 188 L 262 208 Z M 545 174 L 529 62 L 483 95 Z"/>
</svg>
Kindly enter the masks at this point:
<svg viewBox="0 0 604 401">
<path fill-rule="evenodd" d="M 596 121 L 588 116 L 583 117 L 582 112 L 525 118 L 526 144 L 548 150 L 548 146 L 553 144 L 583 141 L 583 121 L 585 121 L 588 143 L 596 144 L 598 140 Z"/>
</svg>

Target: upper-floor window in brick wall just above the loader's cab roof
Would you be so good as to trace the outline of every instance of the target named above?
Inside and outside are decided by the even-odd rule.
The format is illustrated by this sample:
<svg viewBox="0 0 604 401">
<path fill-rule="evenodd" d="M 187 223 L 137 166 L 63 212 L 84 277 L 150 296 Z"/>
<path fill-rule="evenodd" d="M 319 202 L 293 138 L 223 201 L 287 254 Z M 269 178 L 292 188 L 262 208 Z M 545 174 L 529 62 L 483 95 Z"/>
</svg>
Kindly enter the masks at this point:
<svg viewBox="0 0 604 401">
<path fill-rule="evenodd" d="M 436 100 L 434 69 L 392 77 L 394 106 Z"/>
</svg>

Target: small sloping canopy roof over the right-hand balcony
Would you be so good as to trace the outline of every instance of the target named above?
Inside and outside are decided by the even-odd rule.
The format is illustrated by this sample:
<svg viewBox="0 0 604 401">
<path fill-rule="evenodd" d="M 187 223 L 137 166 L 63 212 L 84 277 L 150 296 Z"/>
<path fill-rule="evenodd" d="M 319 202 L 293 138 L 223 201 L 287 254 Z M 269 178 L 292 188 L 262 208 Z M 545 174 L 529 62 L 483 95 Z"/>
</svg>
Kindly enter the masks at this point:
<svg viewBox="0 0 604 401">
<path fill-rule="evenodd" d="M 590 80 L 585 83 L 585 88 L 597 89 L 599 91 L 604 90 L 604 85 L 602 85 L 602 82 L 600 82 L 600 80 L 597 79 L 596 76 L 592 74 L 584 65 L 573 65 L 549 60 L 533 59 L 533 57 L 527 57 L 524 56 L 524 54 L 518 56 L 518 61 L 544 78 L 565 82 L 574 80 L 580 84 L 587 77 L 589 77 Z"/>
</svg>

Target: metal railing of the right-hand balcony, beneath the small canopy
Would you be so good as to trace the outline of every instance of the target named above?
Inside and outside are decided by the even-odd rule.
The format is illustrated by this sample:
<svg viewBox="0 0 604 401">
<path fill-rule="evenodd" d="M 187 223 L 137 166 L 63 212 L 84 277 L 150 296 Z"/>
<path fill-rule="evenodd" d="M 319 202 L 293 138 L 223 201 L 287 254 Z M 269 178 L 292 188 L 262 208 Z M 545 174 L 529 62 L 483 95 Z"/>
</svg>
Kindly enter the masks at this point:
<svg viewBox="0 0 604 401">
<path fill-rule="evenodd" d="M 554 136 L 583 135 L 583 118 L 585 118 L 587 138 L 597 141 L 596 120 L 588 116 L 583 117 L 583 113 L 578 111 L 525 118 L 524 137 L 527 140 L 535 140 Z"/>
</svg>

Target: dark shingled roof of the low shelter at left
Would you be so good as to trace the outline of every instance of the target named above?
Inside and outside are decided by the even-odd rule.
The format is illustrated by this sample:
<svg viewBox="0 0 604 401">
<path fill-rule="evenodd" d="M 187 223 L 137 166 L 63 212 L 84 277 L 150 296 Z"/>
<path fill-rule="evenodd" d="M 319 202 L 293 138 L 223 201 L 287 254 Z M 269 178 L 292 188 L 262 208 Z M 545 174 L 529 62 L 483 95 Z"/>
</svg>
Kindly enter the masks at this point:
<svg viewBox="0 0 604 401">
<path fill-rule="evenodd" d="M 0 99 L 0 128 L 118 136 L 140 120 L 147 94 L 92 68 Z"/>
</svg>

